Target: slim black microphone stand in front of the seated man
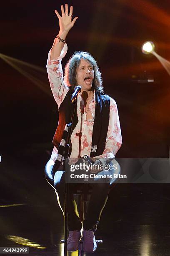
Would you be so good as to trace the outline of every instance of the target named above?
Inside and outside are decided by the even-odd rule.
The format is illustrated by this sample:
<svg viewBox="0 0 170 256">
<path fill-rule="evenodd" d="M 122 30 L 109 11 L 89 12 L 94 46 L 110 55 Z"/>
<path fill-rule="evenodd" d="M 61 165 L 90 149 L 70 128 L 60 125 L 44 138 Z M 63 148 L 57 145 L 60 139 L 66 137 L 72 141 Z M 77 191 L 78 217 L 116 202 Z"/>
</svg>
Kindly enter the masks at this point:
<svg viewBox="0 0 170 256">
<path fill-rule="evenodd" d="M 67 133 L 67 141 L 65 145 L 65 154 L 64 154 L 64 166 L 63 170 L 65 170 L 65 207 L 64 207 L 64 216 L 65 216 L 65 222 L 64 222 L 64 256 L 67 256 L 67 225 L 68 225 L 68 194 L 69 194 L 69 183 L 67 183 L 67 174 L 66 174 L 66 168 L 65 168 L 65 161 L 69 157 L 69 149 L 70 149 L 70 138 L 72 133 L 72 123 L 73 118 L 75 114 L 75 109 L 77 108 L 77 97 L 72 103 L 72 115 L 71 115 L 71 122 L 67 124 L 68 127 L 68 133 Z"/>
</svg>

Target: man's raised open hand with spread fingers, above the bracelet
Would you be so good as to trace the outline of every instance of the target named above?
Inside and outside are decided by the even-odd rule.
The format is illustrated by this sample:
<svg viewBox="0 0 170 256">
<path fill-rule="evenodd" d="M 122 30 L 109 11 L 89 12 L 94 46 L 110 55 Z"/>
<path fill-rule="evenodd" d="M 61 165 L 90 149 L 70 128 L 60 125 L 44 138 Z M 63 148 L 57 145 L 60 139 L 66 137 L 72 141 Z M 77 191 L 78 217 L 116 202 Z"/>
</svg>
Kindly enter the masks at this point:
<svg viewBox="0 0 170 256">
<path fill-rule="evenodd" d="M 63 5 L 61 5 L 61 13 L 62 16 L 55 10 L 55 13 L 59 19 L 59 25 L 60 25 L 60 33 L 66 32 L 68 33 L 70 29 L 74 26 L 75 21 L 77 20 L 78 17 L 75 17 L 72 20 L 72 12 L 73 12 L 73 7 L 70 7 L 70 12 L 68 12 L 68 5 L 65 4 L 65 11 Z"/>
</svg>

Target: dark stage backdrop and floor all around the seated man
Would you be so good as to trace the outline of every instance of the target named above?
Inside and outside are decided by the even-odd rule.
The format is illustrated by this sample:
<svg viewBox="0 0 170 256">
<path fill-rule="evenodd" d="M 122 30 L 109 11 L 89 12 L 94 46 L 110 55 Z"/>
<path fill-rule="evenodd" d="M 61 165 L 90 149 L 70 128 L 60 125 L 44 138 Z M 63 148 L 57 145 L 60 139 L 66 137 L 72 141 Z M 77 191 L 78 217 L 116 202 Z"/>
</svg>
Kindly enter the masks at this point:
<svg viewBox="0 0 170 256">
<path fill-rule="evenodd" d="M 141 45 L 151 40 L 156 52 L 170 59 L 170 1 L 67 3 L 79 18 L 67 36 L 62 66 L 74 51 L 89 51 L 97 60 L 105 93 L 119 110 L 123 145 L 117 157 L 168 158 L 170 76 L 155 56 L 141 52 Z M 54 10 L 60 12 L 61 4 L 65 2 L 8 0 L 0 5 L 0 52 L 15 58 L 10 64 L 20 68 L 18 72 L 0 59 L 0 245 L 18 246 L 7 240 L 9 234 L 47 248 L 57 243 L 54 254 L 32 248 L 30 255 L 59 255 L 63 238 L 62 214 L 44 177 L 57 126 L 45 66 L 59 31 Z M 170 255 L 169 200 L 169 184 L 117 184 L 97 229 L 97 238 L 104 240 L 97 255 Z M 25 205 L 13 205 L 20 203 Z M 142 254 L 148 245 L 149 254 Z"/>
</svg>

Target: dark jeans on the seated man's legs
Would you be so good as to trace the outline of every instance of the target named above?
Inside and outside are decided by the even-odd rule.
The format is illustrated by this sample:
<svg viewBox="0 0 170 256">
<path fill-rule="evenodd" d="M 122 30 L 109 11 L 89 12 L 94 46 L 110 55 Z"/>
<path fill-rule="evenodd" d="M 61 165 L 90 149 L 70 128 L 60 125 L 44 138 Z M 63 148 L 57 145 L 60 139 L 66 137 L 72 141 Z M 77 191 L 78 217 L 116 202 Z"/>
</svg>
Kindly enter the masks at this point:
<svg viewBox="0 0 170 256">
<path fill-rule="evenodd" d="M 82 188 L 86 184 L 69 184 L 68 195 L 68 230 L 81 230 L 82 223 L 79 220 L 77 211 L 77 205 L 74 200 L 74 192 L 77 188 Z M 90 196 L 87 212 L 83 221 L 83 228 L 85 230 L 97 229 L 97 223 L 100 221 L 100 215 L 107 202 L 109 194 L 110 183 L 90 183 L 88 184 L 92 188 L 92 194 Z M 60 208 L 64 214 L 65 204 L 65 172 L 57 171 L 55 173 L 55 192 Z"/>
</svg>

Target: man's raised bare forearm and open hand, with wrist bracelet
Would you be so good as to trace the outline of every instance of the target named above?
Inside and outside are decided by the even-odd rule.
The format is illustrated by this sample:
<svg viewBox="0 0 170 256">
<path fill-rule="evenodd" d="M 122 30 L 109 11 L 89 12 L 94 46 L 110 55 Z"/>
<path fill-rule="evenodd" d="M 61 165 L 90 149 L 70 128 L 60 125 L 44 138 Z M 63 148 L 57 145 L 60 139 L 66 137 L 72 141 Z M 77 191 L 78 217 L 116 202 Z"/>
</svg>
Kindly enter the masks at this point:
<svg viewBox="0 0 170 256">
<path fill-rule="evenodd" d="M 66 39 L 68 32 L 70 31 L 70 29 L 74 26 L 75 21 L 77 20 L 78 17 L 75 17 L 72 20 L 72 13 L 73 13 L 73 7 L 70 7 L 70 12 L 68 11 L 68 5 L 65 4 L 65 11 L 64 11 L 64 6 L 61 5 L 61 16 L 60 14 L 57 12 L 57 10 L 55 10 L 55 13 L 59 19 L 59 26 L 60 26 L 60 31 L 58 33 L 58 36 L 60 38 L 62 38 L 63 40 Z M 52 47 L 51 50 L 51 58 L 52 59 L 57 59 L 60 54 L 61 54 L 61 50 L 64 46 L 64 43 L 62 43 L 62 41 L 57 38 L 57 40 L 55 40 L 55 43 Z"/>
</svg>

